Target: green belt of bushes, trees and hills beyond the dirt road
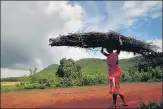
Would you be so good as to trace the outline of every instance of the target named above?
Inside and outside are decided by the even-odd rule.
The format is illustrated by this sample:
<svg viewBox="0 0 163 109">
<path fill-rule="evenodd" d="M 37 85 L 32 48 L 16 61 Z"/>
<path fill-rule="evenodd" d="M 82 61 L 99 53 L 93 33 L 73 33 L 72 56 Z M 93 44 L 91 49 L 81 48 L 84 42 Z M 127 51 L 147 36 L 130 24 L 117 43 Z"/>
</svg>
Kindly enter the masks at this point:
<svg viewBox="0 0 163 109">
<path fill-rule="evenodd" d="M 119 64 L 123 70 L 122 83 L 162 80 L 162 67 L 152 66 L 142 57 L 122 59 Z M 2 78 L 2 92 L 108 84 L 107 65 L 102 59 L 75 62 L 63 58 L 60 65 L 50 65 L 40 72 L 37 68 L 30 69 L 29 72 L 29 76 Z"/>
</svg>

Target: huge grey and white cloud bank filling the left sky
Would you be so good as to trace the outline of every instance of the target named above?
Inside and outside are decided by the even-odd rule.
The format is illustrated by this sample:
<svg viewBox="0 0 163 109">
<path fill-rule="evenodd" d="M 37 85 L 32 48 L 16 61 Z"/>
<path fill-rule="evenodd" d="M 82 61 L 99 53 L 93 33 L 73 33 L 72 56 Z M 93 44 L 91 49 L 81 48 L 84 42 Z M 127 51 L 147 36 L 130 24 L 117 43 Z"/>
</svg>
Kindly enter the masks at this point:
<svg viewBox="0 0 163 109">
<path fill-rule="evenodd" d="M 1 68 L 44 68 L 67 53 L 73 55 L 73 48 L 51 48 L 48 40 L 81 27 L 81 6 L 68 5 L 68 1 L 3 1 L 1 6 Z M 81 54 L 74 54 L 76 58 L 86 57 L 78 51 Z"/>
</svg>

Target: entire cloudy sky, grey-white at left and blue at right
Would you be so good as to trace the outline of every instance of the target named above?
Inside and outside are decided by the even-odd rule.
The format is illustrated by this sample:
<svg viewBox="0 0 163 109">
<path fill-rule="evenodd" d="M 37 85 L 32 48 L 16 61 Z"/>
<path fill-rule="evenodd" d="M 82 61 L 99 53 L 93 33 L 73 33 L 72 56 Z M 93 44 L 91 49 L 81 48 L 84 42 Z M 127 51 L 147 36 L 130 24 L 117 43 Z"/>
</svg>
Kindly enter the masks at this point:
<svg viewBox="0 0 163 109">
<path fill-rule="evenodd" d="M 76 31 L 115 30 L 162 47 L 161 1 L 2 1 L 1 77 L 28 75 L 30 68 L 62 58 L 102 58 L 100 52 L 50 47 L 48 39 Z M 121 52 L 119 58 L 132 53 Z"/>
</svg>

